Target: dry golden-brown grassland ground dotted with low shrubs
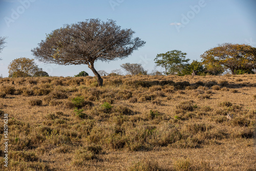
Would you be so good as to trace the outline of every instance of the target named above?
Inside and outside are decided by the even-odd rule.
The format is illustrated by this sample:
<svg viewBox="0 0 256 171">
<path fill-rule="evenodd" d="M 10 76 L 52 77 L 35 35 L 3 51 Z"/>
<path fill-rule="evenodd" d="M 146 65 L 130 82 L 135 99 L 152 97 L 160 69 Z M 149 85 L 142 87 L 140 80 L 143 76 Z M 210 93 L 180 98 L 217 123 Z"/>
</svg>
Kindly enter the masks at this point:
<svg viewBox="0 0 256 171">
<path fill-rule="evenodd" d="M 256 75 L 103 81 L 0 78 L 1 169 L 256 170 Z"/>
</svg>

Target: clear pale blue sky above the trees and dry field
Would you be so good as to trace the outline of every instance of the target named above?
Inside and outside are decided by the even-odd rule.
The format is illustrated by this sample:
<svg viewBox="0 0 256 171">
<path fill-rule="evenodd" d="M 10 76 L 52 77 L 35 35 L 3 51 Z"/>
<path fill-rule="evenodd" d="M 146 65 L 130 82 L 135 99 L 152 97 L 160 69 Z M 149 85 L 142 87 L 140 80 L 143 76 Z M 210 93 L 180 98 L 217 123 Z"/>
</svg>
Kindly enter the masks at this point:
<svg viewBox="0 0 256 171">
<path fill-rule="evenodd" d="M 109 73 L 125 62 L 141 63 L 151 72 L 157 54 L 175 49 L 186 52 L 191 62 L 201 60 L 206 50 L 224 42 L 256 47 L 255 7 L 254 0 L 0 0 L 0 36 L 8 37 L 7 47 L 0 53 L 0 74 L 8 77 L 7 67 L 13 59 L 34 58 L 31 49 L 46 34 L 89 18 L 114 19 L 117 25 L 131 28 L 135 37 L 146 41 L 128 58 L 96 62 L 96 70 Z M 86 65 L 36 63 L 51 76 L 74 76 L 80 71 L 93 76 Z"/>
</svg>

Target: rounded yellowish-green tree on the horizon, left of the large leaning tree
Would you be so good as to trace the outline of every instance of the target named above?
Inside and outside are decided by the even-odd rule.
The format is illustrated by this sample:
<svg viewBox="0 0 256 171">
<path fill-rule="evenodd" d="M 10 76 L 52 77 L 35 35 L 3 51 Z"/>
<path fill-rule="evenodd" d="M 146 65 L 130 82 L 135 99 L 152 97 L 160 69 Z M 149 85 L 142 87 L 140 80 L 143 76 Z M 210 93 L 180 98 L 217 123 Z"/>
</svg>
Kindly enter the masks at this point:
<svg viewBox="0 0 256 171">
<path fill-rule="evenodd" d="M 8 70 L 9 77 L 28 77 L 42 71 L 41 68 L 38 68 L 34 59 L 25 57 L 14 59 L 8 66 Z"/>
</svg>

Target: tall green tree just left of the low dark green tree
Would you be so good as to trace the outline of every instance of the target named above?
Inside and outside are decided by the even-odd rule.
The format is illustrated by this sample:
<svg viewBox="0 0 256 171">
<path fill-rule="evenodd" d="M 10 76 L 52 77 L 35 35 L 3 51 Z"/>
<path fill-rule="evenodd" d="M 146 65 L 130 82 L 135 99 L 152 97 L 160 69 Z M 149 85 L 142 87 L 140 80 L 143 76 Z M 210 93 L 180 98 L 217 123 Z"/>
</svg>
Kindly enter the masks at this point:
<svg viewBox="0 0 256 171">
<path fill-rule="evenodd" d="M 165 74 L 178 74 L 187 65 L 190 59 L 185 59 L 186 53 L 179 50 L 168 51 L 166 53 L 157 54 L 154 59 L 157 66 L 165 69 Z"/>
</svg>

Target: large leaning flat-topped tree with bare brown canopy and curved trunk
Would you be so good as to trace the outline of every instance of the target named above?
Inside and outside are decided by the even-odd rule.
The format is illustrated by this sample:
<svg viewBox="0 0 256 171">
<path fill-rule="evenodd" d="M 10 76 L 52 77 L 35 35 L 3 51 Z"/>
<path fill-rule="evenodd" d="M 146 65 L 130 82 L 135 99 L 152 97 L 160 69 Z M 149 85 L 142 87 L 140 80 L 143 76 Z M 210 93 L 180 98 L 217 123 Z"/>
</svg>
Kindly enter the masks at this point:
<svg viewBox="0 0 256 171">
<path fill-rule="evenodd" d="M 31 51 L 39 61 L 46 63 L 86 64 L 97 77 L 98 85 L 102 86 L 103 80 L 95 70 L 94 62 L 123 59 L 144 46 L 145 41 L 138 37 L 133 39 L 134 33 L 131 29 L 121 29 L 112 19 L 108 22 L 87 19 L 52 31 Z"/>
</svg>

